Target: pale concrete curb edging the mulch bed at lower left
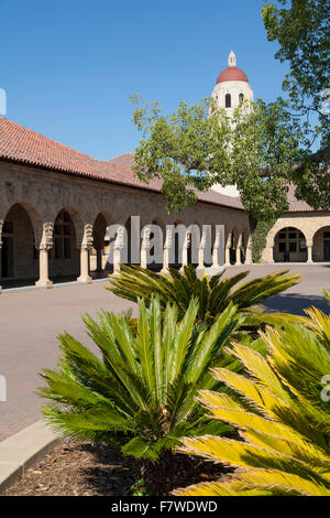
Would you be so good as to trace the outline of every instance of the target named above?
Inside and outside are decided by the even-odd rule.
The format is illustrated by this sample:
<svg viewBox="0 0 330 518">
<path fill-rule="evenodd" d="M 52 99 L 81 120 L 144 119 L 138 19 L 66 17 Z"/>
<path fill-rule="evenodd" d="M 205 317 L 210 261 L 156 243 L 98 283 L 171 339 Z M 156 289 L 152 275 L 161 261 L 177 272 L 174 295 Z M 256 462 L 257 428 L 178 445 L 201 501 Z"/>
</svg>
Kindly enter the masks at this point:
<svg viewBox="0 0 330 518">
<path fill-rule="evenodd" d="M 61 441 L 44 421 L 21 430 L 0 442 L 0 495 Z"/>
</svg>

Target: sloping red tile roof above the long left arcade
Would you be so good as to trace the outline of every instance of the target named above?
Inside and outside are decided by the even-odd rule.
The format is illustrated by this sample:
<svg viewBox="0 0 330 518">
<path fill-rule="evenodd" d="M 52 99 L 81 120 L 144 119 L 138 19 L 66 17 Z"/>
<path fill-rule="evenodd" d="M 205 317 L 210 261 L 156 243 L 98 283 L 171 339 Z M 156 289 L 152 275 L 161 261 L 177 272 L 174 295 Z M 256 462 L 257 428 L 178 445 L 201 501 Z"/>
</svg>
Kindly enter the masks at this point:
<svg viewBox="0 0 330 518">
<path fill-rule="evenodd" d="M 145 191 L 160 192 L 162 187 L 157 179 L 145 184 L 134 176 L 134 154 L 131 152 L 108 161 L 96 160 L 3 117 L 0 117 L 0 159 Z M 211 190 L 198 193 L 198 198 L 200 202 L 243 209 L 239 198 Z"/>
</svg>

